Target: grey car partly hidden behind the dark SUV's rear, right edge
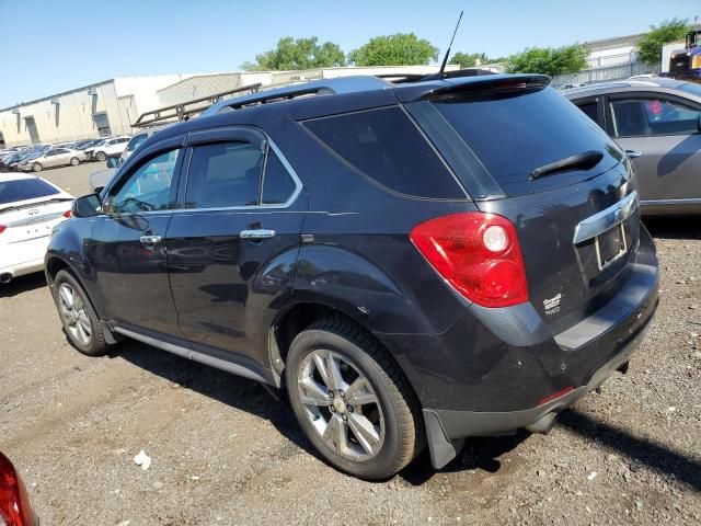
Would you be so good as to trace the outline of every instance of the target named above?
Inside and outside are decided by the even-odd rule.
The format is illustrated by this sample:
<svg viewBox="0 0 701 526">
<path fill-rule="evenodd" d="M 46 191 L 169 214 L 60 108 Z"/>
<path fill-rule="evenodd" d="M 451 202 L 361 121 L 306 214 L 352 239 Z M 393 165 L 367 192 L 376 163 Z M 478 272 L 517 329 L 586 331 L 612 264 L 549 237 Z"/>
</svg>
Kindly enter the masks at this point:
<svg viewBox="0 0 701 526">
<path fill-rule="evenodd" d="M 701 85 L 648 78 L 564 95 L 633 158 L 644 215 L 701 214 Z"/>
</svg>

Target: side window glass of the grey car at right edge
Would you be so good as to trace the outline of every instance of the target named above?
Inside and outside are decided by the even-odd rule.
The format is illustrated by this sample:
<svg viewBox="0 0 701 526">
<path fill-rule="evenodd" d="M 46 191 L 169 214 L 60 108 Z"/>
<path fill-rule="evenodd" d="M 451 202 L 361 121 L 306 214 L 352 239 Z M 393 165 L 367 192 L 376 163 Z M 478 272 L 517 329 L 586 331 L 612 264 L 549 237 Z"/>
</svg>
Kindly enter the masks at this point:
<svg viewBox="0 0 701 526">
<path fill-rule="evenodd" d="M 618 137 L 696 134 L 700 113 L 665 99 L 628 99 L 611 102 Z"/>
</svg>

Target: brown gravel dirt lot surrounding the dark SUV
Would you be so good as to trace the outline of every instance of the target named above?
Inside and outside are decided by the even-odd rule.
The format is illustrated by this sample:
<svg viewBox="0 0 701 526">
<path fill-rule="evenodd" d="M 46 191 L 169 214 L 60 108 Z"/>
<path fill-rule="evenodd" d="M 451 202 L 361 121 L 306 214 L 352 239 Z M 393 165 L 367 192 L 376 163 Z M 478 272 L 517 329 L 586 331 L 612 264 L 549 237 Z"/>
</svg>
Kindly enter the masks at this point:
<svg viewBox="0 0 701 526">
<path fill-rule="evenodd" d="M 99 168 L 43 175 L 80 195 Z M 664 274 L 645 343 L 548 436 L 361 482 L 255 382 L 139 343 L 78 354 L 35 275 L 0 288 L 0 449 L 43 525 L 701 524 L 701 221 L 648 226 Z"/>
</svg>

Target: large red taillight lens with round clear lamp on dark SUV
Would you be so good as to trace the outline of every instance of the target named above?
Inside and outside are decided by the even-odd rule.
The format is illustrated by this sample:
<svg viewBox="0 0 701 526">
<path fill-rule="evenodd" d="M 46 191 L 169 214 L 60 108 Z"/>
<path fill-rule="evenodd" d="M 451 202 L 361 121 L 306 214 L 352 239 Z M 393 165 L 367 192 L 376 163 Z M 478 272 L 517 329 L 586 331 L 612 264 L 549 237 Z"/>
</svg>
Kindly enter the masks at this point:
<svg viewBox="0 0 701 526">
<path fill-rule="evenodd" d="M 451 214 L 417 225 L 411 240 L 470 301 L 483 307 L 528 301 L 518 237 L 505 217 L 480 211 Z"/>
</svg>

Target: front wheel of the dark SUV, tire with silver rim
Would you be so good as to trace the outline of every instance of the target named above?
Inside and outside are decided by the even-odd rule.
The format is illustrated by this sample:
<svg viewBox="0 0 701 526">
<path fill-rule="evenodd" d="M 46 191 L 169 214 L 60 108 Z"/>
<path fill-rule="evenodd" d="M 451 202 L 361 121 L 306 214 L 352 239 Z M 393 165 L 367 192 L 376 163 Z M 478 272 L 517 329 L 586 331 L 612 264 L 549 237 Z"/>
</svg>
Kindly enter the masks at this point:
<svg viewBox="0 0 701 526">
<path fill-rule="evenodd" d="M 67 271 L 56 274 L 54 301 L 69 343 L 88 356 L 104 355 L 108 345 L 105 343 L 97 315 L 83 287 Z"/>
</svg>

